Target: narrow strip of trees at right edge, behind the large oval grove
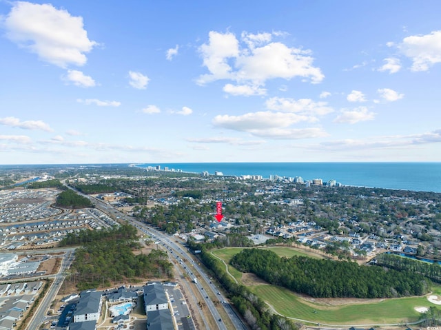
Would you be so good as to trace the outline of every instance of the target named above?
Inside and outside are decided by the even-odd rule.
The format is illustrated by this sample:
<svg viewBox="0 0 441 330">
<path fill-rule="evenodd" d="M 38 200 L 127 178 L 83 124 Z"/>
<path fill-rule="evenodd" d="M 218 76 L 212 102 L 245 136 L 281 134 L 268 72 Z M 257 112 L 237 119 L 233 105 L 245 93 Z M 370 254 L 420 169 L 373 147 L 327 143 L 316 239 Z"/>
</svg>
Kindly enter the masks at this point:
<svg viewBox="0 0 441 330">
<path fill-rule="evenodd" d="M 397 256 L 396 254 L 378 254 L 376 262 L 378 266 L 400 271 L 411 271 L 424 275 L 435 282 L 441 282 L 441 265 L 436 262 L 424 262 Z"/>
</svg>

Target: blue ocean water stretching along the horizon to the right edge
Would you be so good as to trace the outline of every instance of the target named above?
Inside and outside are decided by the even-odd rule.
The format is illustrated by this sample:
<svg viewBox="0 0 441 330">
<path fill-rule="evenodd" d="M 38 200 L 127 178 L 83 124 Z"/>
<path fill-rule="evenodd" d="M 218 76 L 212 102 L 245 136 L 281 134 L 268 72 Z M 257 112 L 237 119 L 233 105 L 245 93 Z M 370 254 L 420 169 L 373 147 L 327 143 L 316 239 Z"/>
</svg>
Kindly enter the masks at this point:
<svg viewBox="0 0 441 330">
<path fill-rule="evenodd" d="M 321 178 L 336 180 L 342 185 L 404 189 L 416 192 L 441 192 L 441 163 L 149 163 L 139 167 L 161 166 L 161 169 L 226 176 L 270 175 L 303 180 Z"/>
</svg>

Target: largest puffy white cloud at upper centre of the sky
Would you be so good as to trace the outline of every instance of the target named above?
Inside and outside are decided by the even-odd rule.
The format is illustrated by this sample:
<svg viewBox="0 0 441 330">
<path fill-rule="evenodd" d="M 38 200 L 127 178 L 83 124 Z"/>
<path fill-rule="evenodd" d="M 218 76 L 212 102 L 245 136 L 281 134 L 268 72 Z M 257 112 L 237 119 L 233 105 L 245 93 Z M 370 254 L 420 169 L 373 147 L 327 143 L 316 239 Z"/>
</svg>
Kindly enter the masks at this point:
<svg viewBox="0 0 441 330">
<path fill-rule="evenodd" d="M 209 42 L 199 48 L 209 74 L 199 76 L 198 83 L 229 79 L 240 85 L 264 85 L 267 79 L 296 76 L 310 79 L 312 83 L 322 81 L 322 72 L 312 65 L 311 51 L 270 42 L 272 35 L 275 34 L 243 32 L 240 48 L 231 32 L 209 32 Z"/>
</svg>

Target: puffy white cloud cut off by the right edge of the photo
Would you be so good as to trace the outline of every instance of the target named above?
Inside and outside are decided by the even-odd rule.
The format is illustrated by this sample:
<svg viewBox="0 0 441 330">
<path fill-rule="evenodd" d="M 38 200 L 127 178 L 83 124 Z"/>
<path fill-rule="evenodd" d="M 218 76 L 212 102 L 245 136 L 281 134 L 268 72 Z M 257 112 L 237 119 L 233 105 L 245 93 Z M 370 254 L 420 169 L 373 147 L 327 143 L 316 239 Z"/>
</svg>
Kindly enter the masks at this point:
<svg viewBox="0 0 441 330">
<path fill-rule="evenodd" d="M 441 63 L 441 30 L 402 39 L 398 49 L 413 61 L 412 71 L 427 71 Z"/>
</svg>

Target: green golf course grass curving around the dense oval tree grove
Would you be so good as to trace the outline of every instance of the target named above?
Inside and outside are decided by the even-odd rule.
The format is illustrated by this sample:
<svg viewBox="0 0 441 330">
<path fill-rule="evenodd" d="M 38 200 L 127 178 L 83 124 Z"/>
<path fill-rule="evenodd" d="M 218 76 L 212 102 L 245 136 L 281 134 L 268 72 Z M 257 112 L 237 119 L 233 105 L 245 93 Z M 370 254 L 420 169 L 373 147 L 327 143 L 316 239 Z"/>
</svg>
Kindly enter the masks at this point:
<svg viewBox="0 0 441 330">
<path fill-rule="evenodd" d="M 240 252 L 242 248 L 225 248 L 213 251 L 213 254 L 222 258 L 228 264 L 229 260 Z M 279 256 L 302 255 L 309 256 L 305 251 L 287 247 L 273 247 L 272 251 Z M 241 282 L 241 273 L 229 265 L 229 271 L 234 278 Z M 250 285 L 247 279 L 247 287 L 265 300 L 268 305 L 289 318 L 320 324 L 395 324 L 416 322 L 421 315 L 415 307 L 435 306 L 427 300 L 427 297 L 407 297 L 396 299 L 304 299 L 282 287 L 254 283 Z M 441 296 L 441 287 L 433 287 L 433 293 Z M 336 303 L 338 301 L 338 304 Z"/>
</svg>

